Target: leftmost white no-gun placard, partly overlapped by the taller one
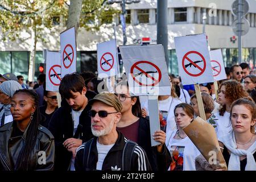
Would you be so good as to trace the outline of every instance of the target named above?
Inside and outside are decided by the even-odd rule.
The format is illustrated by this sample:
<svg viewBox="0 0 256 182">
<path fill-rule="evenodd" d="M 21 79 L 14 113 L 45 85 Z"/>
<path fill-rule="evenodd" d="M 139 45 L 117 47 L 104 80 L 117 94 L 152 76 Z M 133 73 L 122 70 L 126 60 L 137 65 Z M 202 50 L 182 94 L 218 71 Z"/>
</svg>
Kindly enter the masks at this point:
<svg viewBox="0 0 256 182">
<path fill-rule="evenodd" d="M 47 51 L 46 55 L 46 90 L 59 92 L 61 81 L 60 52 Z"/>
</svg>

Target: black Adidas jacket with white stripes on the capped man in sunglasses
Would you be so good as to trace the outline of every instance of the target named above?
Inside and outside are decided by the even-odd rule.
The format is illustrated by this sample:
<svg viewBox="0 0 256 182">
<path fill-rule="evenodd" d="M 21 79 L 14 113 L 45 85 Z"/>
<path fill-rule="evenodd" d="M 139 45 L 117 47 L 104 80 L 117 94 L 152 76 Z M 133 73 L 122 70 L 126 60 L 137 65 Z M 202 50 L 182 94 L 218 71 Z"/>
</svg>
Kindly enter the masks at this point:
<svg viewBox="0 0 256 182">
<path fill-rule="evenodd" d="M 123 134 L 118 132 L 118 139 L 114 146 L 110 148 L 102 164 L 102 171 L 122 171 L 122 151 L 127 139 L 123 137 Z M 93 139 L 92 147 L 90 150 L 90 157 L 88 162 L 89 171 L 96 171 L 98 162 L 98 151 L 97 151 L 97 139 Z M 83 143 L 77 148 L 75 158 L 75 169 L 76 171 L 85 171 L 84 162 L 84 147 Z M 146 152 L 139 146 L 137 146 L 131 156 L 131 171 L 151 171 L 150 163 L 148 162 Z"/>
</svg>

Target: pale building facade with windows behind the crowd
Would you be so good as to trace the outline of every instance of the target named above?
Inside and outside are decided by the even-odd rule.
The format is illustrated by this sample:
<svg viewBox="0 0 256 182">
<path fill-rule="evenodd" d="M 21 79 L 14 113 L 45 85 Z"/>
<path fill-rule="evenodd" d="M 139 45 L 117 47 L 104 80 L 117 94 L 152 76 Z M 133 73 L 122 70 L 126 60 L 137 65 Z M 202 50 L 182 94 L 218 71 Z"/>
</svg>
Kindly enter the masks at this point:
<svg viewBox="0 0 256 182">
<path fill-rule="evenodd" d="M 242 62 L 256 67 L 256 1 L 247 0 L 249 13 L 245 18 L 249 21 L 249 32 L 242 36 Z M 201 34 L 203 28 L 208 36 L 211 49 L 222 49 L 225 66 L 238 63 L 238 38 L 232 30 L 236 16 L 232 14 L 234 0 L 169 0 L 168 1 L 168 71 L 178 74 L 174 37 Z M 119 4 L 113 7 L 121 9 Z M 141 39 L 148 37 L 156 44 L 157 0 L 141 0 L 139 3 L 126 5 L 126 36 L 128 44 L 141 44 Z M 60 18 L 61 19 L 61 18 Z M 204 23 L 205 22 L 205 23 Z M 36 66 L 44 62 L 43 49 L 59 51 L 59 34 L 65 30 L 63 24 L 57 23 L 53 34 L 46 30 L 48 43 L 37 45 Z M 24 33 L 24 36 L 28 36 Z M 1 35 L 0 35 L 1 38 Z M 106 23 L 97 32 L 88 32 L 80 28 L 77 36 L 77 71 L 97 70 L 97 43 L 117 39 L 123 44 L 122 24 L 118 15 L 113 15 L 113 22 Z M 24 75 L 28 70 L 30 40 L 22 42 L 0 43 L 0 72 L 13 72 Z M 184 45 L 187 46 L 187 45 Z M 38 74 L 38 73 L 36 73 Z"/>
</svg>

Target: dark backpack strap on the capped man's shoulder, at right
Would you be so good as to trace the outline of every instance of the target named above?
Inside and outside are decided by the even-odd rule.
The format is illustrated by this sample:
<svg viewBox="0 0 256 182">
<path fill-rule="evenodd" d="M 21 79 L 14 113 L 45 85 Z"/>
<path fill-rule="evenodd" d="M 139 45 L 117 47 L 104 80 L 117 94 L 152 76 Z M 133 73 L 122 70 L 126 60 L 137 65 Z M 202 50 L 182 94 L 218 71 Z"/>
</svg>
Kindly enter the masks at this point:
<svg viewBox="0 0 256 182">
<path fill-rule="evenodd" d="M 122 170 L 123 171 L 131 170 L 131 157 L 133 156 L 133 152 L 137 146 L 138 144 L 131 140 L 127 140 L 127 142 L 125 143 L 125 147 L 123 147 L 123 152 L 122 152 Z"/>
</svg>

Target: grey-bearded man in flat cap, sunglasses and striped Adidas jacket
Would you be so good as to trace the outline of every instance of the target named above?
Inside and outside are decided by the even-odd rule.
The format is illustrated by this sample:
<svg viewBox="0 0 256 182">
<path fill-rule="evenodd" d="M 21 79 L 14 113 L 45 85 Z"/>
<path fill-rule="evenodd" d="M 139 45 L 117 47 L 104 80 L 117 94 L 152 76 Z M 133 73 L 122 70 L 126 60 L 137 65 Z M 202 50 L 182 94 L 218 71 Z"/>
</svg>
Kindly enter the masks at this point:
<svg viewBox="0 0 256 182">
<path fill-rule="evenodd" d="M 77 149 L 76 171 L 148 171 L 151 170 L 146 152 L 136 143 L 133 150 L 126 150 L 127 139 L 116 130 L 121 119 L 122 104 L 113 93 L 100 93 L 89 101 L 93 138 Z M 125 147 L 126 146 L 126 147 Z M 86 154 L 86 155 L 85 155 Z M 128 160 L 125 168 L 123 160 Z M 126 160 L 127 161 L 127 160 Z"/>
</svg>

